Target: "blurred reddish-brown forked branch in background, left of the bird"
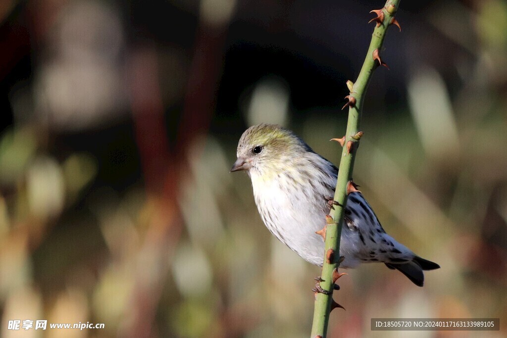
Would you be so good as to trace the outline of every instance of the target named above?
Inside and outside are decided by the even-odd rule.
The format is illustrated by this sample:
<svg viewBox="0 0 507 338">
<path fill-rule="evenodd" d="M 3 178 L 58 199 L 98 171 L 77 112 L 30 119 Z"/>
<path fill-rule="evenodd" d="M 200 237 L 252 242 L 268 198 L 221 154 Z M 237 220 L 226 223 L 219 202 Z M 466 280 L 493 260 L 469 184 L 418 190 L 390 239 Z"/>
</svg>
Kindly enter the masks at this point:
<svg viewBox="0 0 507 338">
<path fill-rule="evenodd" d="M 202 20 L 197 29 L 182 121 L 172 149 L 167 148 L 156 57 L 149 51 L 133 56 L 132 111 L 147 194 L 154 207 L 140 256 L 152 257 L 149 270 L 153 275 L 150 278 L 144 275 L 146 262 L 140 261 L 132 314 L 128 316 L 133 320 L 124 330 L 128 336 L 153 334 L 151 329 L 163 287 L 160 281 L 164 280 L 171 259 L 167 248 L 174 250 L 182 232 L 177 201 L 182 193 L 180 183 L 188 176 L 187 150 L 197 136 L 206 133 L 214 112 L 227 26 L 228 21 L 210 25 Z"/>
</svg>

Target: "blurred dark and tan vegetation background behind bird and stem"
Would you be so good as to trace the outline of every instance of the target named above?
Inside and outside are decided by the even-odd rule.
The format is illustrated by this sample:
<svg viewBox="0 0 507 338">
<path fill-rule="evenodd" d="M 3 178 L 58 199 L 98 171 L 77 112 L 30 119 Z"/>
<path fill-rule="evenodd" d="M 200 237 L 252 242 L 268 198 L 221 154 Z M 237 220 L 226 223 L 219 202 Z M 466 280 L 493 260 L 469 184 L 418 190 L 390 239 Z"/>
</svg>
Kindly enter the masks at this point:
<svg viewBox="0 0 507 338">
<path fill-rule="evenodd" d="M 260 122 L 338 165 L 329 139 L 383 4 L 2 0 L 0 335 L 308 336 L 320 269 L 271 236 L 229 169 Z M 505 336 L 507 2 L 403 1 L 397 19 L 354 181 L 442 269 L 424 288 L 383 265 L 347 271 L 330 336 Z M 378 317 L 501 330 L 371 331 Z"/>
</svg>

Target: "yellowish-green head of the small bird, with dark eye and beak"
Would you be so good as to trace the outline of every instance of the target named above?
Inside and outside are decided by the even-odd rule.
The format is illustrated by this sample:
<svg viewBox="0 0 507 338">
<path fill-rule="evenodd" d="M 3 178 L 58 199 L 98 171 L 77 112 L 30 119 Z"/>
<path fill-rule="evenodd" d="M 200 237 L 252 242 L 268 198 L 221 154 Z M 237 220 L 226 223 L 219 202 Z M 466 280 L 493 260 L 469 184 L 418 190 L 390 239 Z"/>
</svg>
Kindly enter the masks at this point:
<svg viewBox="0 0 507 338">
<path fill-rule="evenodd" d="M 269 175 L 295 163 L 298 156 L 311 151 L 292 131 L 273 124 L 248 128 L 238 142 L 237 161 L 231 172 L 252 170 Z"/>
</svg>

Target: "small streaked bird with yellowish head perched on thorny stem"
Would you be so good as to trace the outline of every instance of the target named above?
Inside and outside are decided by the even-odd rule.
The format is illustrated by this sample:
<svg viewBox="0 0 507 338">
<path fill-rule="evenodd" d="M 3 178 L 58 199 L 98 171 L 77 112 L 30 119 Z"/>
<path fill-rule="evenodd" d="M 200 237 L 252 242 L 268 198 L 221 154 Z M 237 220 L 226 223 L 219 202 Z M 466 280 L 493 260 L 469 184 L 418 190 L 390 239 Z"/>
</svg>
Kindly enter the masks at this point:
<svg viewBox="0 0 507 338">
<path fill-rule="evenodd" d="M 322 266 L 324 240 L 316 231 L 332 207 L 338 168 L 292 131 L 278 125 L 248 128 L 239 139 L 231 172 L 245 170 L 268 230 L 310 263 Z M 331 204 L 330 204 L 331 202 Z M 423 286 L 423 270 L 439 269 L 387 235 L 359 191 L 348 195 L 340 240 L 341 268 L 383 262 Z"/>
</svg>

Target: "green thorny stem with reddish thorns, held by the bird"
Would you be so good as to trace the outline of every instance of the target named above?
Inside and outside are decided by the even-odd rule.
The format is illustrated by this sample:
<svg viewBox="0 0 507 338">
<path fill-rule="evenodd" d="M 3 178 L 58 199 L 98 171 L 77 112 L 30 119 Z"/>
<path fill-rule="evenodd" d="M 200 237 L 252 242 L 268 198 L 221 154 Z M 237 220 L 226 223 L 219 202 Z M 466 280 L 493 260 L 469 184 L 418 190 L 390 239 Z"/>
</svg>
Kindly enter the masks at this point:
<svg viewBox="0 0 507 338">
<path fill-rule="evenodd" d="M 324 228 L 325 232 L 322 232 L 325 237 L 325 252 L 320 288 L 323 290 L 333 291 L 336 279 L 340 277 L 340 274 L 338 274 L 340 255 L 336 254 L 336 252 L 340 252 L 340 236 L 347 195 L 350 190 L 355 190 L 354 185 L 349 182 L 352 180 L 352 169 L 359 145 L 359 138 L 363 135 L 363 133 L 359 131 L 363 100 L 373 71 L 380 65 L 387 67 L 387 65 L 381 61 L 379 52 L 382 49 L 382 44 L 389 25 L 395 24 L 399 27 L 399 24 L 394 19 L 399 3 L 400 0 L 388 0 L 382 9 L 372 11 L 377 17 L 372 20 L 376 23 L 376 27 L 373 30 L 370 48 L 368 49 L 365 62 L 363 63 L 363 67 L 359 72 L 356 82 L 347 82 L 350 96 L 348 97 L 349 102 L 347 102 L 345 106 L 349 107 L 349 115 L 347 132 L 342 139 L 338 140 L 340 143 L 343 143 L 343 149 L 334 196 L 334 200 L 337 201 L 339 205 L 336 205 L 334 210 L 331 210 L 330 216 L 332 218 L 329 216 L 327 217 L 328 224 Z M 339 307 L 333 300 L 333 294 L 326 293 L 328 292 L 315 293 L 315 309 L 313 312 L 311 338 L 325 338 L 328 331 L 329 315 L 334 308 Z"/>
</svg>

